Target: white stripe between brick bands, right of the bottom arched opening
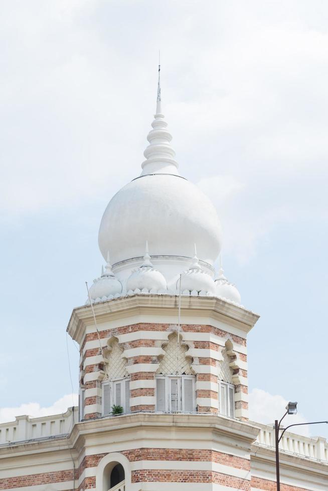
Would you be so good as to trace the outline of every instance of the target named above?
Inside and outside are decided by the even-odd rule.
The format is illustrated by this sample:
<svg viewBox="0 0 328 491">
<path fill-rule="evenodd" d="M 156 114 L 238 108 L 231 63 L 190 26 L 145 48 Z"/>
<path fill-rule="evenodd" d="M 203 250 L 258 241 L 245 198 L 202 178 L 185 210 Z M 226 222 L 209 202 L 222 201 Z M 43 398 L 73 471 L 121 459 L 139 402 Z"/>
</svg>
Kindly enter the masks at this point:
<svg viewBox="0 0 328 491">
<path fill-rule="evenodd" d="M 230 465 L 211 461 L 188 461 L 188 460 L 137 460 L 131 462 L 131 470 L 159 469 L 159 470 L 207 470 L 220 472 L 221 474 L 240 477 L 250 480 L 250 470 L 238 469 Z"/>
</svg>

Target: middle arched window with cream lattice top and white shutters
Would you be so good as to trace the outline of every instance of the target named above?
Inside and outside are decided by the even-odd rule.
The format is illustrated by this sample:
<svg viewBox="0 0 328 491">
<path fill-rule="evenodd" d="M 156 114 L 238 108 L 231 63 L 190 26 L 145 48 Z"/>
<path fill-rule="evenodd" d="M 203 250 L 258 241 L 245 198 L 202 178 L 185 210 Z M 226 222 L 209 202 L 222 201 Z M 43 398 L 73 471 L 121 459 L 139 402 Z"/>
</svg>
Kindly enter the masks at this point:
<svg viewBox="0 0 328 491">
<path fill-rule="evenodd" d="M 194 412 L 196 410 L 195 376 L 188 346 L 178 343 L 177 333 L 163 346 L 165 355 L 156 372 L 156 411 Z"/>
</svg>

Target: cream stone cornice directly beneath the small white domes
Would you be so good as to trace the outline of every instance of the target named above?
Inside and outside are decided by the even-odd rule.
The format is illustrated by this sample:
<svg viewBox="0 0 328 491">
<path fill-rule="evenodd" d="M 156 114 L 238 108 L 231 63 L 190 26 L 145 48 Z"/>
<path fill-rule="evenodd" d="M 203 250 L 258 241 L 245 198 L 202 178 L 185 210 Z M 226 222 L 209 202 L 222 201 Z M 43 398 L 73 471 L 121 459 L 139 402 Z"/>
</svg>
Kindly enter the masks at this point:
<svg viewBox="0 0 328 491">
<path fill-rule="evenodd" d="M 97 318 L 103 320 L 126 317 L 126 312 L 140 314 L 170 314 L 178 310 L 179 296 L 157 294 L 135 294 L 99 302 L 93 305 Z M 222 322 L 230 322 L 239 329 L 248 333 L 257 322 L 259 315 L 237 305 L 226 302 L 217 297 L 181 297 L 182 316 L 209 315 Z M 90 305 L 77 307 L 73 310 L 67 332 L 77 342 L 81 341 L 83 327 L 92 321 Z"/>
</svg>

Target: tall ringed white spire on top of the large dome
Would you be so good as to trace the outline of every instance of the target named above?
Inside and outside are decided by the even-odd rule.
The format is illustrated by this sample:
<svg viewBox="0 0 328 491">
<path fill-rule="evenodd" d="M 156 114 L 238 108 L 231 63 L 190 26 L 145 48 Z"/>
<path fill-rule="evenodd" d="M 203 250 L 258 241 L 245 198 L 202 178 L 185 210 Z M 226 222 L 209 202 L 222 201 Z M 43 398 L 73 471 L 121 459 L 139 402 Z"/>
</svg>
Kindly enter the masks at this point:
<svg viewBox="0 0 328 491">
<path fill-rule="evenodd" d="M 149 131 L 147 136 L 149 145 L 143 152 L 146 160 L 141 164 L 141 175 L 179 175 L 178 162 L 174 159 L 176 152 L 171 146 L 172 135 L 167 129 L 168 123 L 161 112 L 160 65 L 158 65 L 156 114 L 154 118 L 151 123 L 153 129 Z"/>
</svg>

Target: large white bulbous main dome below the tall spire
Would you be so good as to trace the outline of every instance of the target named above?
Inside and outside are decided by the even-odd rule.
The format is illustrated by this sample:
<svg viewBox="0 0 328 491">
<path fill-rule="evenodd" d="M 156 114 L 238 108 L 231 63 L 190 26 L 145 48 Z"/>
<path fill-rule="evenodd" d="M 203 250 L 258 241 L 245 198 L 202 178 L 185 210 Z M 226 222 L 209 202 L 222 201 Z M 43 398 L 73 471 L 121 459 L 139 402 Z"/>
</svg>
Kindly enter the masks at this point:
<svg viewBox="0 0 328 491">
<path fill-rule="evenodd" d="M 99 228 L 99 247 L 112 264 L 143 256 L 148 239 L 154 256 L 193 256 L 213 265 L 221 248 L 217 212 L 203 192 L 171 174 L 134 179 L 110 200 Z"/>
</svg>

